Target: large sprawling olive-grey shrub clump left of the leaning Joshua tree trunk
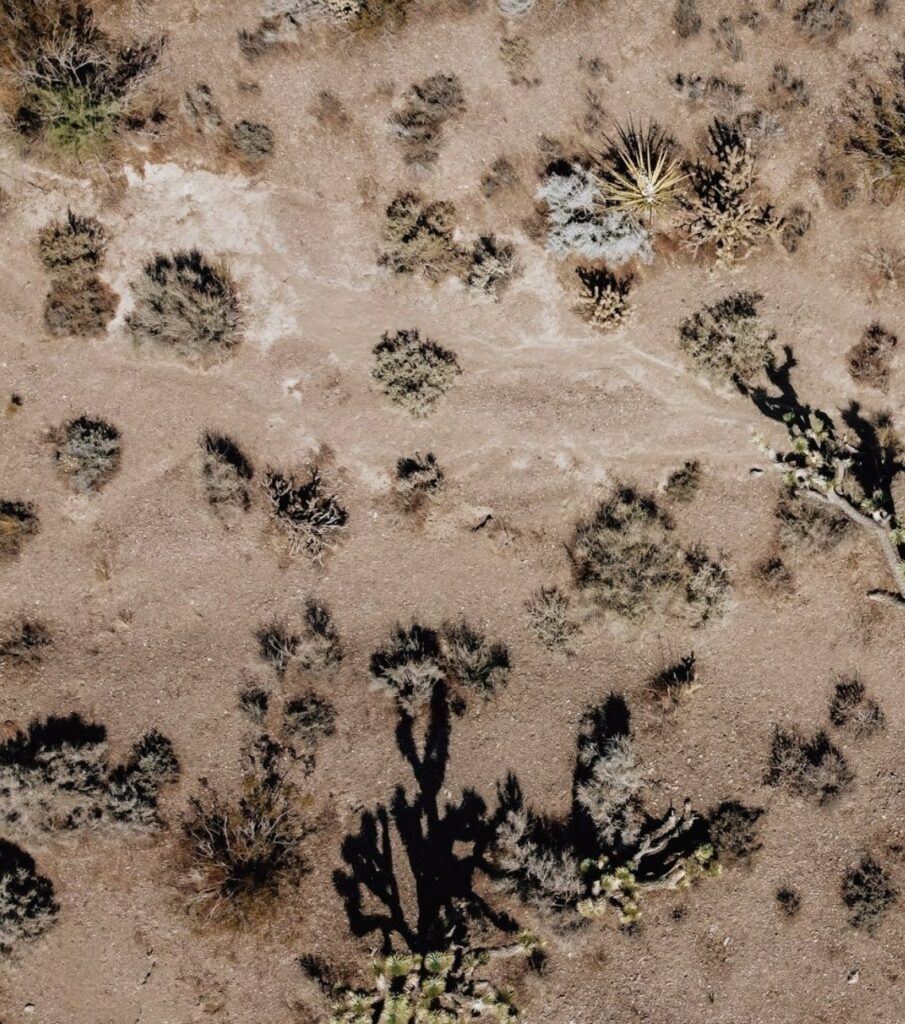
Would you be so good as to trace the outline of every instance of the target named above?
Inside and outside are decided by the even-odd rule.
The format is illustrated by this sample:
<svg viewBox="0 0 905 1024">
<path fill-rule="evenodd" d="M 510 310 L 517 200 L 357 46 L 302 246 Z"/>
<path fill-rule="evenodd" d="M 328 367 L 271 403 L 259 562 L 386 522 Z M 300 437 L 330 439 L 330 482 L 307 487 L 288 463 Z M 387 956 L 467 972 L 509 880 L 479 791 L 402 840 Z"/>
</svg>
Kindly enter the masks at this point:
<svg viewBox="0 0 905 1024">
<path fill-rule="evenodd" d="M 577 586 L 628 618 L 681 610 L 694 623 L 719 612 L 726 569 L 703 551 L 683 548 L 652 496 L 616 484 L 580 519 L 569 545 Z"/>
</svg>

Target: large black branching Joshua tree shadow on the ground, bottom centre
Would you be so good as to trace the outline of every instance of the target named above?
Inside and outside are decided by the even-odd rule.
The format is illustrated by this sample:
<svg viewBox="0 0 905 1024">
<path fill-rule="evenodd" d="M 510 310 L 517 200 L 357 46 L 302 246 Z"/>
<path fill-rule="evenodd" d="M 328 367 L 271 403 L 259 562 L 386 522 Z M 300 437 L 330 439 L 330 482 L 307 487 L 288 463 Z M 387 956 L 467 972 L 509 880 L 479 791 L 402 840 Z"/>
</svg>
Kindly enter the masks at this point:
<svg viewBox="0 0 905 1024">
<path fill-rule="evenodd" d="M 489 814 L 481 797 L 465 790 L 458 803 L 441 806 L 440 791 L 449 760 L 449 699 L 437 686 L 422 751 L 416 722 L 399 711 L 396 745 L 415 776 L 410 796 L 396 787 L 389 805 L 361 815 L 357 833 L 342 844 L 346 867 L 334 874 L 355 935 L 379 932 L 384 952 L 393 936 L 416 953 L 463 942 L 478 919 L 503 932 L 518 926 L 474 891 L 478 872 L 493 874 L 487 862 L 502 809 Z M 397 856 L 401 854 L 401 856 Z"/>
</svg>

